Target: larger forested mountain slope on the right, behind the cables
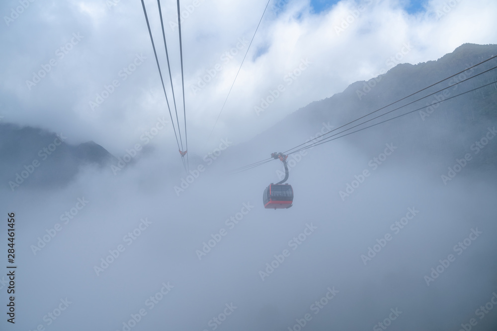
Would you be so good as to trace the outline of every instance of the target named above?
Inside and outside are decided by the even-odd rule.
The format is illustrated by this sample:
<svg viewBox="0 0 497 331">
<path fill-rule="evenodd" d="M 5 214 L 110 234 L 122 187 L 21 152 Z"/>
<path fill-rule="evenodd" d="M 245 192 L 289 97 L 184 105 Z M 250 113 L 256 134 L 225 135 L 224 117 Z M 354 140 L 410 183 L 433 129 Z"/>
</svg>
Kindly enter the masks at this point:
<svg viewBox="0 0 497 331">
<path fill-rule="evenodd" d="M 330 98 L 312 102 L 298 109 L 267 131 L 241 144 L 241 146 L 248 149 L 253 148 L 254 145 L 259 147 L 268 146 L 270 152 L 273 149 L 274 151 L 280 151 L 279 148 L 288 149 L 294 147 L 309 139 L 311 134 L 318 132 L 323 123 L 329 122 L 331 126 L 334 126 L 333 129 L 336 129 L 459 71 L 487 60 L 496 54 L 497 45 L 464 44 L 437 61 L 417 65 L 397 65 L 369 81 L 354 82 L 341 93 L 336 93 Z M 496 65 L 497 59 L 493 59 L 400 103 L 387 107 L 372 116 L 345 126 L 332 134 L 446 88 Z M 385 67 L 387 68 L 387 66 Z M 448 99 L 496 80 L 497 69 L 494 69 L 450 87 L 446 91 L 446 95 L 443 95 L 443 92 L 438 92 L 351 131 L 422 108 L 419 111 L 362 132 L 351 134 L 343 139 L 352 142 L 364 151 L 377 148 L 379 139 L 384 140 L 384 143 L 396 141 L 404 145 L 405 148 L 402 148 L 402 151 L 398 152 L 399 154 L 415 152 L 426 156 L 449 154 L 447 157 L 461 157 L 459 152 L 461 148 L 469 150 L 476 140 L 481 139 L 486 134 L 489 127 L 493 128 L 497 124 L 497 84 L 444 101 L 439 105 L 431 106 L 431 103 L 442 98 Z M 267 109 L 266 111 L 271 110 Z M 263 115 L 261 114 L 262 118 Z M 298 136 L 296 133 L 301 131 L 307 133 L 304 132 L 304 135 L 294 138 L 294 136 Z M 288 132 L 291 133 L 289 134 Z M 372 136 L 375 139 L 372 139 Z M 330 142 L 316 148 L 329 153 L 331 151 L 326 150 L 327 146 L 331 148 L 332 145 L 333 142 Z M 261 156 L 268 157 L 269 154 Z M 471 166 L 481 165 L 496 168 L 497 144 L 488 144 L 486 153 L 479 153 L 475 156 L 475 161 L 472 162 Z"/>
</svg>

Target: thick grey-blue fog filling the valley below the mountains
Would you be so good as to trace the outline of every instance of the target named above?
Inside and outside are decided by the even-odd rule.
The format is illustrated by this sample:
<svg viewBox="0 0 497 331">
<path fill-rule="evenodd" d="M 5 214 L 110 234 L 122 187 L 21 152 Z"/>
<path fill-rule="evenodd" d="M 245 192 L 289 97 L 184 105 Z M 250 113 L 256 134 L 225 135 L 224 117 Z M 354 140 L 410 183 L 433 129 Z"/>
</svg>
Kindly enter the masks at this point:
<svg viewBox="0 0 497 331">
<path fill-rule="evenodd" d="M 444 185 L 443 168 L 428 167 L 421 153 L 403 152 L 409 146 L 389 140 L 389 132 L 369 130 L 357 133 L 375 145 L 368 152 L 341 139 L 290 162 L 290 209 L 261 203 L 281 162 L 229 172 L 241 159 L 260 157 L 258 148 L 237 145 L 211 164 L 190 159 L 191 177 L 157 146 L 116 175 L 110 166 L 86 167 L 63 189 L 3 190 L 17 225 L 15 330 L 127 330 L 123 322 L 132 315 L 140 320 L 133 330 L 298 330 L 299 321 L 307 330 L 371 329 L 396 318 L 391 309 L 399 314 L 392 330 L 456 330 L 472 318 L 477 330 L 491 330 L 495 312 L 480 320 L 475 310 L 496 290 L 495 171 L 464 169 Z M 308 132 L 293 140 L 305 141 Z M 277 134 L 268 139 L 279 140 Z M 391 155 L 381 165 L 373 161 L 376 169 L 369 166 L 388 151 L 386 144 Z M 453 165 L 451 155 L 431 158 Z M 193 170 L 197 164 L 203 172 Z M 342 199 L 339 191 L 349 192 L 347 184 L 365 169 L 370 175 Z M 182 179 L 191 183 L 175 190 Z M 66 224 L 61 215 L 81 207 L 78 201 L 85 205 Z M 412 219 L 402 225 L 403 217 Z M 56 224 L 62 229 L 49 238 Z M 454 248 L 465 238 L 475 240 Z M 384 247 L 368 255 L 377 244 Z M 455 261 L 426 281 L 449 254 Z M 152 305 L 149 298 L 163 283 L 170 291 Z M 327 293 L 331 300 L 322 299 Z M 66 298 L 67 310 L 50 324 L 48 313 Z M 317 300 L 327 304 L 312 306 Z M 141 309 L 146 315 L 139 318 Z"/>
</svg>

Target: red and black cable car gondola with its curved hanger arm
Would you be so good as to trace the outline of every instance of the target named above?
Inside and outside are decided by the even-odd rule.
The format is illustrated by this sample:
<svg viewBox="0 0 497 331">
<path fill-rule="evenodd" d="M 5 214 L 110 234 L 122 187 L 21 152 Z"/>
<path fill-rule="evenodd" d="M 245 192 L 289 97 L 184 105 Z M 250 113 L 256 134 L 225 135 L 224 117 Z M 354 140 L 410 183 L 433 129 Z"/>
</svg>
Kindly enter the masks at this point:
<svg viewBox="0 0 497 331">
<path fill-rule="evenodd" d="M 290 184 L 283 184 L 288 179 L 288 165 L 286 163 L 286 158 L 288 155 L 283 155 L 282 153 L 272 153 L 271 156 L 275 159 L 280 159 L 285 166 L 285 178 L 276 184 L 269 184 L 269 186 L 264 190 L 262 196 L 262 202 L 264 203 L 264 208 L 270 209 L 283 209 L 290 208 L 293 205 L 293 188 Z"/>
</svg>

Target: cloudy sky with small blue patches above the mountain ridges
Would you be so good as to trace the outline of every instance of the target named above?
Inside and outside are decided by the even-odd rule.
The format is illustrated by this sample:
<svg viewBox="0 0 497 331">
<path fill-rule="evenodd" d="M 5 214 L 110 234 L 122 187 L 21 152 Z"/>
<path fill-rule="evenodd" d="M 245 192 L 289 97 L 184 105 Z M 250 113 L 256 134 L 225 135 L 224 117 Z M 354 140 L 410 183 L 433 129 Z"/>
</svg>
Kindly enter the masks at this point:
<svg viewBox="0 0 497 331">
<path fill-rule="evenodd" d="M 187 132 L 191 152 L 199 155 L 220 138 L 246 141 L 310 102 L 377 76 L 393 66 L 387 61 L 405 45 L 409 51 L 398 62 L 417 64 L 436 60 L 463 43 L 493 43 L 497 31 L 497 3 L 491 0 L 461 0 L 445 9 L 442 0 L 271 1 L 206 143 L 266 1 L 199 1 L 189 7 L 191 14 L 186 11 L 182 24 Z M 157 3 L 145 3 L 172 99 Z M 3 1 L 0 10 L 8 16 L 16 5 Z M 181 10 L 188 5 L 192 4 L 182 2 Z M 177 109 L 182 114 L 176 5 L 162 1 L 162 6 Z M 347 26 L 343 22 L 351 13 L 357 18 L 349 17 Z M 8 45 L 0 55 L 5 122 L 71 132 L 70 142 L 94 140 L 115 153 L 133 144 L 158 117 L 169 118 L 140 1 L 35 1 L 15 20 L 3 20 L 0 37 Z M 77 44 L 62 54 L 60 48 L 71 42 L 73 33 L 81 40 L 73 39 Z M 244 43 L 237 50 L 239 39 Z M 230 51 L 238 54 L 231 59 L 226 55 Z M 143 64 L 131 75 L 121 71 L 137 54 L 146 57 Z M 32 81 L 33 73 L 51 59 L 56 66 L 49 66 L 46 77 L 28 86 L 27 80 Z M 306 59 L 309 66 L 257 116 L 254 107 L 260 107 L 261 99 L 279 84 L 286 84 L 285 75 Z M 216 75 L 209 78 L 213 69 Z M 114 80 L 119 86 L 101 105 L 91 107 Z M 206 80 L 205 87 L 193 90 Z M 170 135 L 162 139 L 174 141 Z"/>
</svg>

